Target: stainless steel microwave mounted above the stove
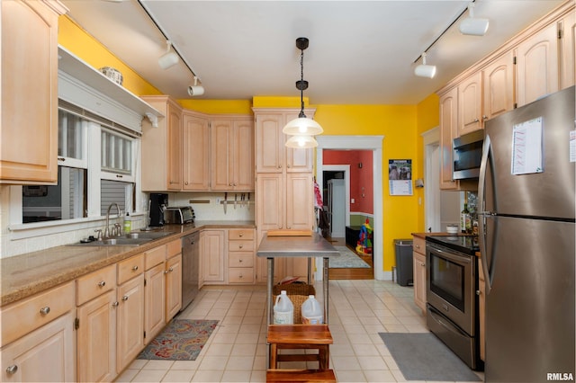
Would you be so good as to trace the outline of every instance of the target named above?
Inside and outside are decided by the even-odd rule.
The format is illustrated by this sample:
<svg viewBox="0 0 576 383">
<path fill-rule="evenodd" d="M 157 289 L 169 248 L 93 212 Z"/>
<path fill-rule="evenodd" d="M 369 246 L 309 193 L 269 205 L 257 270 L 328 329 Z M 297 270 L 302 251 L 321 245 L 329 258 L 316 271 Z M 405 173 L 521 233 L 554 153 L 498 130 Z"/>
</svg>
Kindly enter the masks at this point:
<svg viewBox="0 0 576 383">
<path fill-rule="evenodd" d="M 476 130 L 453 141 L 452 179 L 478 178 L 482 161 L 484 130 Z"/>
</svg>

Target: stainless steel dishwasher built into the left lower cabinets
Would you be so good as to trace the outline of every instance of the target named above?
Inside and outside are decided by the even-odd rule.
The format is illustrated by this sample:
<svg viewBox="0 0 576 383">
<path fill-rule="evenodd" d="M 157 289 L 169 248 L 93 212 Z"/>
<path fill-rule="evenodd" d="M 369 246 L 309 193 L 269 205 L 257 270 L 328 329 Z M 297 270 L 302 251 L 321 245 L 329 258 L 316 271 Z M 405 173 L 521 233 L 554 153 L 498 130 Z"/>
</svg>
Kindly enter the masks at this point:
<svg viewBox="0 0 576 383">
<path fill-rule="evenodd" d="M 182 310 L 198 295 L 200 233 L 182 237 Z"/>
</svg>

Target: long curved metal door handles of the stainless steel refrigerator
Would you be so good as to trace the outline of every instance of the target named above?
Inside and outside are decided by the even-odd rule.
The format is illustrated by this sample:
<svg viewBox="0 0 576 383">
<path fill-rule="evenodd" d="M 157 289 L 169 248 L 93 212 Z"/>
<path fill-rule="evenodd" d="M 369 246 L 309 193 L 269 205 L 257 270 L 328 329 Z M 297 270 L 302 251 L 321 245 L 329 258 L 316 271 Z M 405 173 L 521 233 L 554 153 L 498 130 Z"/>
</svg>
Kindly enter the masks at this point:
<svg viewBox="0 0 576 383">
<path fill-rule="evenodd" d="M 482 270 L 486 274 L 484 276 L 484 281 L 486 283 L 486 294 L 490 294 L 490 290 L 492 287 L 492 278 L 491 278 L 491 269 L 489 268 L 488 265 L 488 259 L 491 258 L 491 256 L 489 256 L 489 254 L 487 253 L 488 246 L 486 245 L 486 233 L 484 228 L 486 227 L 486 218 L 496 215 L 495 212 L 485 210 L 486 200 L 484 193 L 486 192 L 485 191 L 486 167 L 489 165 L 489 159 L 490 159 L 490 165 L 492 165 L 491 151 L 492 151 L 491 139 L 489 135 L 486 135 L 486 137 L 484 137 L 484 144 L 482 147 L 482 161 L 480 162 L 480 174 L 478 177 L 478 200 L 480 201 L 481 204 L 481 209 L 478 212 L 478 216 L 482 217 L 482 222 L 478 226 L 478 245 L 480 247 L 480 254 L 482 254 L 482 256 L 480 257 L 480 260 L 482 262 Z"/>
</svg>

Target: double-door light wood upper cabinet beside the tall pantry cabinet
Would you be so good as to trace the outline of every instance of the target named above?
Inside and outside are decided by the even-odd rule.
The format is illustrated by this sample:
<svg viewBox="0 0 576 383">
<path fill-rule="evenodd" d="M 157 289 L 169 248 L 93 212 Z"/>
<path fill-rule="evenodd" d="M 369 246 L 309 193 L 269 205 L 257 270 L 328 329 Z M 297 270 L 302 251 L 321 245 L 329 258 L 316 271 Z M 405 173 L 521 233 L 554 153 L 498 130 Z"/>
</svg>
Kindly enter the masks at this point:
<svg viewBox="0 0 576 383">
<path fill-rule="evenodd" d="M 254 191 L 254 120 L 211 120 L 211 190 Z"/>
</svg>

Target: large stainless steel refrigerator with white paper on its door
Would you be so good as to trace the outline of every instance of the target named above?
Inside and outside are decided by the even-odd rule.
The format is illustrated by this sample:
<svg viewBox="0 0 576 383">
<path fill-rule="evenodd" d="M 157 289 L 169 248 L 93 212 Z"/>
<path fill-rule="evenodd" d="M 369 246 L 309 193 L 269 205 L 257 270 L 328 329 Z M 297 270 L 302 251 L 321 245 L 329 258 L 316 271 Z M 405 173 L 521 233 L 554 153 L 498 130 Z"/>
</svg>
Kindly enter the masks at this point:
<svg viewBox="0 0 576 383">
<path fill-rule="evenodd" d="M 576 379 L 574 92 L 485 124 L 479 242 L 488 271 L 487 382 Z"/>
</svg>

